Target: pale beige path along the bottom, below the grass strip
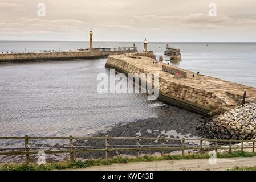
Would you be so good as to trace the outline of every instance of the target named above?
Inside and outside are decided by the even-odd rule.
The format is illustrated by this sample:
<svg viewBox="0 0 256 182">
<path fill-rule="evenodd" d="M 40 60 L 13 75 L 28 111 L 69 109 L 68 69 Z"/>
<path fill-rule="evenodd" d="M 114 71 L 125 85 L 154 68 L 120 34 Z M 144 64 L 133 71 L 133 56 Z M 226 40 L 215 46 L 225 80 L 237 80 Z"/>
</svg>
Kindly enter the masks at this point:
<svg viewBox="0 0 256 182">
<path fill-rule="evenodd" d="M 171 162 L 174 162 L 171 164 Z M 162 160 L 158 162 L 137 162 L 127 164 L 112 164 L 109 166 L 93 166 L 80 171 L 166 171 L 166 170 L 226 170 L 233 167 L 256 166 L 256 156 L 251 158 L 217 159 L 217 164 L 210 165 L 208 159 Z"/>
</svg>

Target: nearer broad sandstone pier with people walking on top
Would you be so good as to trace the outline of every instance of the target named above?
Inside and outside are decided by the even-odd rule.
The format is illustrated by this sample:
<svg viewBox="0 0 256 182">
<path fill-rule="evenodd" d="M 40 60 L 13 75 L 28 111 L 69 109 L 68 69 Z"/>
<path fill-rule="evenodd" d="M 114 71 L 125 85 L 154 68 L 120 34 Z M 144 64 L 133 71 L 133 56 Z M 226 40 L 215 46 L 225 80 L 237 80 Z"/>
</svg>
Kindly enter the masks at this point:
<svg viewBox="0 0 256 182">
<path fill-rule="evenodd" d="M 186 78 L 165 72 L 165 63 L 152 64 L 155 59 L 153 53 L 131 53 L 141 59 L 125 55 L 109 56 L 105 67 L 115 68 L 123 73 L 158 73 L 159 74 L 159 100 L 167 104 L 182 107 L 200 114 L 220 114 L 235 106 L 241 105 L 243 93 L 247 92 L 246 101 L 256 102 L 256 88 L 218 78 L 197 75 L 169 65 L 176 71 L 186 72 Z M 194 77 L 193 77 L 194 75 Z"/>
</svg>

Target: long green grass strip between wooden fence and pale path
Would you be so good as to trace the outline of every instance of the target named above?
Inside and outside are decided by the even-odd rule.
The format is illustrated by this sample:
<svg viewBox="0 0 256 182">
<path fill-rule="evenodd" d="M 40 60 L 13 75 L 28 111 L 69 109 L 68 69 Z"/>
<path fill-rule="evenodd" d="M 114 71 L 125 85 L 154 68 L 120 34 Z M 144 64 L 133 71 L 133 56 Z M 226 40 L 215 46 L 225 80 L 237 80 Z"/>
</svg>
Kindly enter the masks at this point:
<svg viewBox="0 0 256 182">
<path fill-rule="evenodd" d="M 217 153 L 217 158 L 234 158 L 234 157 L 252 157 L 256 153 L 235 151 L 227 154 Z M 161 157 L 156 156 L 143 156 L 141 158 L 112 158 L 112 159 L 92 159 L 92 160 L 78 160 L 74 162 L 56 162 L 47 163 L 45 165 L 39 164 L 2 164 L 0 171 L 51 171 L 61 169 L 78 169 L 87 168 L 91 166 L 111 165 L 111 164 L 124 164 L 129 162 L 150 162 L 158 160 L 181 160 L 181 159 L 208 159 L 210 156 L 206 154 L 186 154 L 182 155 L 165 155 Z M 255 167 L 256 169 L 256 167 Z"/>
</svg>

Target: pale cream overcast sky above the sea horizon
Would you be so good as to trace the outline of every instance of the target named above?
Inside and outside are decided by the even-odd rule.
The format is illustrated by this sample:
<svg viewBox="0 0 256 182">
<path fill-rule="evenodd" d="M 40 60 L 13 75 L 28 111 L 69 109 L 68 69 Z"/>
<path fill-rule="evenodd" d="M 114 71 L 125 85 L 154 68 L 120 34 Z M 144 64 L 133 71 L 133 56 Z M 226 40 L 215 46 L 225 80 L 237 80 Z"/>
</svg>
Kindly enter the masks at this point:
<svg viewBox="0 0 256 182">
<path fill-rule="evenodd" d="M 87 41 L 92 28 L 96 41 L 256 42 L 255 9 L 256 0 L 0 0 L 0 40 Z"/>
</svg>

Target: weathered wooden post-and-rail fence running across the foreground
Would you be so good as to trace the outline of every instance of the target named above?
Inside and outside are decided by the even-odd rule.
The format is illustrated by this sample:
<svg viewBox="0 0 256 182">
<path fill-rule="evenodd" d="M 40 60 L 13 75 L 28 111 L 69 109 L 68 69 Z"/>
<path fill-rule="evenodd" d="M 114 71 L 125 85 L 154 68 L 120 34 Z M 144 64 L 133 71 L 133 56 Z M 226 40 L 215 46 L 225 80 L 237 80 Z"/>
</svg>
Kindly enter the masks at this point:
<svg viewBox="0 0 256 182">
<path fill-rule="evenodd" d="M 136 157 L 139 158 L 140 151 L 161 151 L 161 155 L 164 155 L 166 150 L 180 150 L 182 155 L 185 154 L 185 150 L 200 150 L 205 152 L 209 150 L 226 149 L 231 152 L 234 149 L 241 149 L 243 151 L 246 148 L 252 149 L 254 152 L 255 140 L 219 140 L 219 139 L 192 139 L 192 138 L 164 138 L 164 137 L 0 137 L 0 140 L 23 140 L 25 147 L 23 148 L 1 148 L 0 155 L 25 155 L 26 164 L 29 164 L 29 156 L 31 154 L 38 154 L 40 151 L 44 151 L 45 154 L 63 154 L 69 153 L 70 160 L 74 161 L 75 153 L 83 152 L 105 152 L 105 159 L 109 159 L 110 151 L 136 151 Z M 30 147 L 29 140 L 68 140 L 68 146 L 62 147 Z M 102 146 L 74 146 L 74 140 L 104 140 Z M 134 145 L 109 145 L 109 140 L 135 140 Z M 140 144 L 141 140 L 160 140 L 160 144 Z M 181 144 L 165 144 L 165 141 L 176 140 Z M 203 144 L 204 141 L 208 141 L 211 144 Z M 198 142 L 200 144 L 192 145 L 189 142 Z M 250 142 L 250 146 L 245 146 L 244 142 Z M 220 145 L 221 143 L 221 145 Z M 241 146 L 234 146 L 234 143 L 241 143 Z M 86 148 L 86 149 L 84 149 Z M 89 148 L 89 149 L 88 149 Z"/>
</svg>

